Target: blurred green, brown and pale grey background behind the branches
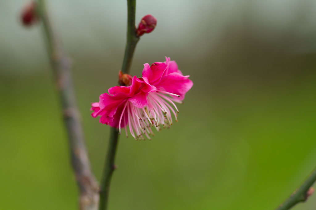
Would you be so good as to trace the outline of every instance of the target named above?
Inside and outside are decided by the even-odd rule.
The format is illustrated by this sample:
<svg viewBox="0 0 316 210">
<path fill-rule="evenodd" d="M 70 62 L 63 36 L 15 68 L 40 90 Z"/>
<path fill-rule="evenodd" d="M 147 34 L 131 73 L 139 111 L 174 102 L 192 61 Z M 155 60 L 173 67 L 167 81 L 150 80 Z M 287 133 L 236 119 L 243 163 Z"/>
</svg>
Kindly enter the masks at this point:
<svg viewBox="0 0 316 210">
<path fill-rule="evenodd" d="M 0 209 L 77 209 L 77 187 L 39 26 L 24 0 L 0 1 Z M 73 59 L 95 176 L 109 127 L 90 103 L 117 84 L 125 0 L 48 0 Z M 121 136 L 109 209 L 274 209 L 316 166 L 316 2 L 137 0 L 144 63 L 177 61 L 194 85 L 179 122 L 152 141 Z M 315 209 L 316 195 L 295 210 Z"/>
</svg>

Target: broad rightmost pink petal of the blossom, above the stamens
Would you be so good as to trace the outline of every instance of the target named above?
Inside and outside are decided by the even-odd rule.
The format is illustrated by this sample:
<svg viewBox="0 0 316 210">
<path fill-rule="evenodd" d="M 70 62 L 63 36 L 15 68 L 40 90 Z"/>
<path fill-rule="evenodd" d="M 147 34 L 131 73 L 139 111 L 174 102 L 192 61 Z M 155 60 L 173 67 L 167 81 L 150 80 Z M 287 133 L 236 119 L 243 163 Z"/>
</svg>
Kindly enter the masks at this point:
<svg viewBox="0 0 316 210">
<path fill-rule="evenodd" d="M 183 76 L 179 73 L 170 73 L 161 78 L 157 91 L 163 90 L 169 93 L 177 94 L 180 97 L 172 96 L 177 100 L 183 100 L 185 93 L 191 89 L 193 82 L 188 79 L 189 76 Z"/>
</svg>

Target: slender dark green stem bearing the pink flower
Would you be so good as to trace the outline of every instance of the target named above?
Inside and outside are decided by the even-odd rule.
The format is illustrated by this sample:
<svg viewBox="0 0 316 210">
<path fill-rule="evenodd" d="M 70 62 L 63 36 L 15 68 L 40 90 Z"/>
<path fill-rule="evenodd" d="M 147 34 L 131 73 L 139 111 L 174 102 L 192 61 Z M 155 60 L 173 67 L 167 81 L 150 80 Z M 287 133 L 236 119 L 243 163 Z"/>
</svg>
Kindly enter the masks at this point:
<svg viewBox="0 0 316 210">
<path fill-rule="evenodd" d="M 127 0 L 127 39 L 125 54 L 122 64 L 122 72 L 129 73 L 131 69 L 131 63 L 133 60 L 136 44 L 139 41 L 139 37 L 135 30 L 135 12 L 136 12 L 136 0 Z M 114 169 L 115 153 L 117 144 L 119 141 L 119 131 L 116 128 L 111 127 L 109 146 L 107 149 L 106 161 L 104 164 L 103 175 L 100 186 L 100 204 L 99 210 L 106 210 L 108 204 L 109 188 L 111 177 Z"/>
</svg>

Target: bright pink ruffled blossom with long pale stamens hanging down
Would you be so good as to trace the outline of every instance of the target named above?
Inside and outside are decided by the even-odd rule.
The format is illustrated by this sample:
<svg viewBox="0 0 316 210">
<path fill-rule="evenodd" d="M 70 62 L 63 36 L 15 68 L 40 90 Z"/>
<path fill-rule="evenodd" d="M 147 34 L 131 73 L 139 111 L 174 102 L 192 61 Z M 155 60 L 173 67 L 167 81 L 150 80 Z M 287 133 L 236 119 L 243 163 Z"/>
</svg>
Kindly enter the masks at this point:
<svg viewBox="0 0 316 210">
<path fill-rule="evenodd" d="M 160 125 L 170 127 L 172 114 L 177 122 L 179 111 L 174 102 L 182 103 L 191 89 L 189 76 L 183 76 L 177 63 L 167 57 L 163 63 L 145 63 L 142 75 L 134 76 L 128 87 L 111 87 L 111 95 L 101 94 L 100 102 L 92 103 L 92 117 L 101 116 L 100 123 L 119 128 L 119 132 L 125 128 L 126 136 L 128 125 L 135 139 L 144 139 L 143 134 L 150 139 L 153 125 L 158 131 Z"/>
</svg>

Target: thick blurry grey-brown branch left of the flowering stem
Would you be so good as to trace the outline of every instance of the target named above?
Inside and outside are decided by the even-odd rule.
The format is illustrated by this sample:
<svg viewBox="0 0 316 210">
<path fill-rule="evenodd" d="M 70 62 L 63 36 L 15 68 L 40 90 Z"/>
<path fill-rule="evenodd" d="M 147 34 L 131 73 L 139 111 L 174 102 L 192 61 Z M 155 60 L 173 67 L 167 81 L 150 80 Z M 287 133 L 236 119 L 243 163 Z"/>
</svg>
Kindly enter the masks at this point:
<svg viewBox="0 0 316 210">
<path fill-rule="evenodd" d="M 99 201 L 98 183 L 91 171 L 85 146 L 80 115 L 77 110 L 74 85 L 71 77 L 71 62 L 63 43 L 52 26 L 45 1 L 39 0 L 38 14 L 43 22 L 47 50 L 52 70 L 57 83 L 60 102 L 63 109 L 64 123 L 69 139 L 71 164 L 79 187 L 81 210 L 96 210 Z"/>
</svg>

